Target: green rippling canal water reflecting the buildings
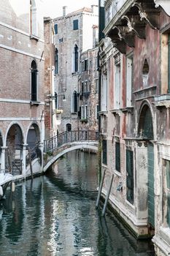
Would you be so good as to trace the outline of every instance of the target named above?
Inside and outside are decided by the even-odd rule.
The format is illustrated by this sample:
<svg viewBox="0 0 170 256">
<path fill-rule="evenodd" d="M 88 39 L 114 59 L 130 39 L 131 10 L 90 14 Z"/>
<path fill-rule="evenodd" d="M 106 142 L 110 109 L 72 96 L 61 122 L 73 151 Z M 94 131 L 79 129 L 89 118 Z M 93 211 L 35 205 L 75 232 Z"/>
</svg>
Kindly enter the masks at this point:
<svg viewBox="0 0 170 256">
<path fill-rule="evenodd" d="M 17 184 L 0 202 L 1 256 L 153 256 L 107 212 L 96 210 L 97 157 L 72 151 L 46 176 Z"/>
</svg>

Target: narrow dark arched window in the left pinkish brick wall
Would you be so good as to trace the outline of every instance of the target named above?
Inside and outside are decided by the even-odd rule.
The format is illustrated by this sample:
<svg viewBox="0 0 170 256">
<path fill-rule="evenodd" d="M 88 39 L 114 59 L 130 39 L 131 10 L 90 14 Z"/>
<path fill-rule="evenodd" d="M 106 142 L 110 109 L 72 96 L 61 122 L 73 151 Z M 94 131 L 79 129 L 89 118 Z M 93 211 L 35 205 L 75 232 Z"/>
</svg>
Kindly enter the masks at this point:
<svg viewBox="0 0 170 256">
<path fill-rule="evenodd" d="M 37 69 L 36 61 L 31 62 L 31 100 L 37 101 Z"/>
</svg>

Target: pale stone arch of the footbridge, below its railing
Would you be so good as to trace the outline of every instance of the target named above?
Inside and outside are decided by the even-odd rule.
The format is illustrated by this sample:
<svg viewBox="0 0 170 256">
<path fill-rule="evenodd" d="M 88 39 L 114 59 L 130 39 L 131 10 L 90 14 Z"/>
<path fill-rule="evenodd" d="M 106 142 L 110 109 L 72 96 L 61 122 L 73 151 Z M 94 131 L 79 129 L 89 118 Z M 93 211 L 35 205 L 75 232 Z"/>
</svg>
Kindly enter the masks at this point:
<svg viewBox="0 0 170 256">
<path fill-rule="evenodd" d="M 60 157 L 62 157 L 64 154 L 70 152 L 70 151 L 74 151 L 77 149 L 91 149 L 93 151 L 98 151 L 98 143 L 90 143 L 90 142 L 79 142 L 79 143 L 68 143 L 68 144 L 64 144 L 63 146 L 61 146 L 60 148 L 58 148 L 58 150 L 55 153 L 55 156 L 50 159 L 43 168 L 43 171 L 46 172 L 46 170 L 53 165 L 54 162 L 56 162 Z"/>
</svg>

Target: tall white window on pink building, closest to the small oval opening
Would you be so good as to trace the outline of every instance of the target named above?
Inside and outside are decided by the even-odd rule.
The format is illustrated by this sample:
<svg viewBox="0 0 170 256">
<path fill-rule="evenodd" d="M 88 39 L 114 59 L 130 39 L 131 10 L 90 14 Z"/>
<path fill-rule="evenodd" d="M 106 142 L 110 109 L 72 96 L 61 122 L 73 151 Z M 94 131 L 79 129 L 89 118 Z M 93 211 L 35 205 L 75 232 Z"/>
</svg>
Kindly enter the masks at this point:
<svg viewBox="0 0 170 256">
<path fill-rule="evenodd" d="M 133 58 L 126 59 L 126 107 L 131 107 Z"/>
</svg>

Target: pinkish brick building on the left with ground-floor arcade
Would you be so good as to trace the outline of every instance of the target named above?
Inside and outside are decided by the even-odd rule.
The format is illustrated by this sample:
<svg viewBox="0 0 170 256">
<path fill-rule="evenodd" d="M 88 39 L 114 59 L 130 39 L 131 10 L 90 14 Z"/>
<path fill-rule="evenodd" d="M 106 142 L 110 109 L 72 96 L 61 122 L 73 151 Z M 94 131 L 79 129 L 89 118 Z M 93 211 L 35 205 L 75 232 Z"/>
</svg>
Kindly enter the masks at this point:
<svg viewBox="0 0 170 256">
<path fill-rule="evenodd" d="M 44 140 L 41 8 L 40 0 L 1 0 L 0 7 L 1 170 L 11 169 L 18 160 L 24 176 L 28 147 L 36 146 L 42 159 Z"/>
</svg>

